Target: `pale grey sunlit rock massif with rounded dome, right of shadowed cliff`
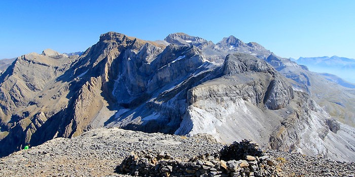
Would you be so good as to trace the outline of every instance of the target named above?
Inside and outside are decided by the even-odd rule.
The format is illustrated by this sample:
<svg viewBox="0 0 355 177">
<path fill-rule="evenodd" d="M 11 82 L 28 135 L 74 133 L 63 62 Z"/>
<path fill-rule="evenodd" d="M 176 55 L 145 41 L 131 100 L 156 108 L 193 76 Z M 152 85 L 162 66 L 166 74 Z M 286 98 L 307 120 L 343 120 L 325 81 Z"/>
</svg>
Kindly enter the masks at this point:
<svg viewBox="0 0 355 177">
<path fill-rule="evenodd" d="M 342 157 L 329 151 L 330 136 L 338 136 L 326 124 L 329 115 L 265 61 L 228 55 L 221 67 L 222 76 L 189 90 L 190 105 L 175 134 L 207 132 L 223 142 L 248 138 L 272 149 L 353 158 L 345 157 L 352 148 L 343 148 Z"/>
</svg>

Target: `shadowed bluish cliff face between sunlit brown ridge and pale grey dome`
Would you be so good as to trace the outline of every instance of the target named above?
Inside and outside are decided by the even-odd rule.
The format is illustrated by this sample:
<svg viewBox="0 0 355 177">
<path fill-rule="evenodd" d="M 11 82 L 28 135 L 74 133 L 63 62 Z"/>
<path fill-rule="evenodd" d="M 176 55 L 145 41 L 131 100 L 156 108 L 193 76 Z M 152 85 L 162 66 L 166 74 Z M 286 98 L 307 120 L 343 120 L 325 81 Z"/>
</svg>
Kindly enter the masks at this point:
<svg viewBox="0 0 355 177">
<path fill-rule="evenodd" d="M 118 112 L 107 125 L 172 134 L 185 113 L 187 88 L 198 84 L 215 66 L 194 46 L 171 44 L 143 62 L 137 58 L 139 53 L 129 58 L 134 63 L 122 64 L 112 91 Z"/>
</svg>

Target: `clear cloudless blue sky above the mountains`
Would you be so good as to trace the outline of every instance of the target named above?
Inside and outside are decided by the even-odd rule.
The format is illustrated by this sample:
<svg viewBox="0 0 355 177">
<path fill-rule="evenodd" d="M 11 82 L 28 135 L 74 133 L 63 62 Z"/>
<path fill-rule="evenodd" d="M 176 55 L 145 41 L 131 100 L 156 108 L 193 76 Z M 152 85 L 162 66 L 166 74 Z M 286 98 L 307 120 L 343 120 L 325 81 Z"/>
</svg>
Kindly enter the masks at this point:
<svg viewBox="0 0 355 177">
<path fill-rule="evenodd" d="M 0 1 L 0 59 L 85 51 L 108 31 L 215 43 L 234 35 L 280 57 L 355 58 L 355 1 Z"/>
</svg>

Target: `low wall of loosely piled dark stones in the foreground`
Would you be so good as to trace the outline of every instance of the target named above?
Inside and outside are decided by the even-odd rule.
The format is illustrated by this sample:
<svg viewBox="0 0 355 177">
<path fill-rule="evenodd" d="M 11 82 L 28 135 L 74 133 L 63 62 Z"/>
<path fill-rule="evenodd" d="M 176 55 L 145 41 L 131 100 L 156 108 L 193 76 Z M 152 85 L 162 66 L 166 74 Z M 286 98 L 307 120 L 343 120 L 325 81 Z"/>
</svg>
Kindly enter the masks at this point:
<svg viewBox="0 0 355 177">
<path fill-rule="evenodd" d="M 116 172 L 134 176 L 278 176 L 275 161 L 255 142 L 243 140 L 225 146 L 220 152 L 198 155 L 187 162 L 177 161 L 162 151 L 131 152 Z"/>
</svg>

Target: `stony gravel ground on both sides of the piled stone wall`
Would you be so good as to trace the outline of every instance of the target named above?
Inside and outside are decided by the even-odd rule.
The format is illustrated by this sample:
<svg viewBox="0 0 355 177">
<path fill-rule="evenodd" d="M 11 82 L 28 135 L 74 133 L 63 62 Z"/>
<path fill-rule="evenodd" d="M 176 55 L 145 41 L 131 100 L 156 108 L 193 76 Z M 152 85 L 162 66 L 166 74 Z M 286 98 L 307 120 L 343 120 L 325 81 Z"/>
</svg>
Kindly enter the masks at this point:
<svg viewBox="0 0 355 177">
<path fill-rule="evenodd" d="M 115 172 L 135 152 L 164 152 L 176 161 L 219 152 L 225 145 L 208 135 L 191 138 L 119 128 L 94 129 L 57 138 L 0 159 L 0 176 L 129 176 Z M 278 176 L 355 176 L 355 163 L 267 150 Z"/>
</svg>

